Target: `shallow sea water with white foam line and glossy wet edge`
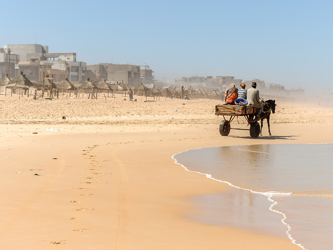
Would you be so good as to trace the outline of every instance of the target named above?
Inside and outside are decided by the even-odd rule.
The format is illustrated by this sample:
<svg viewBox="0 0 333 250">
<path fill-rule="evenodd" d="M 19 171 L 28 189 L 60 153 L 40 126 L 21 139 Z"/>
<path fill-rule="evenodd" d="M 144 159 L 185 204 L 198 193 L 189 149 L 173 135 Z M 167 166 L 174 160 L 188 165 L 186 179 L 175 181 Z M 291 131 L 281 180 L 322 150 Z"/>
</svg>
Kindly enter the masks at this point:
<svg viewBox="0 0 333 250">
<path fill-rule="evenodd" d="M 238 190 L 193 197 L 201 214 L 192 218 L 289 237 L 303 249 L 333 249 L 333 144 L 211 147 L 173 158 Z"/>
</svg>

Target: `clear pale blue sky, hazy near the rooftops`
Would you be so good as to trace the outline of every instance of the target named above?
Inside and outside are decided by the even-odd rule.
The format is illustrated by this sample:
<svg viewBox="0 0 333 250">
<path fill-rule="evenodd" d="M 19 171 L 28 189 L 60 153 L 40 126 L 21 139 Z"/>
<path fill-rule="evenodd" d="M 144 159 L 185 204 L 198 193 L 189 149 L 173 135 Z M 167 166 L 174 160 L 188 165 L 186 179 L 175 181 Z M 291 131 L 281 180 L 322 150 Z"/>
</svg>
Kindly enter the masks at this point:
<svg viewBox="0 0 333 250">
<path fill-rule="evenodd" d="M 223 75 L 328 92 L 332 11 L 331 0 L 18 0 L 2 11 L 0 46 L 35 43 L 36 33 L 50 53 L 146 63 L 159 80 Z"/>
</svg>

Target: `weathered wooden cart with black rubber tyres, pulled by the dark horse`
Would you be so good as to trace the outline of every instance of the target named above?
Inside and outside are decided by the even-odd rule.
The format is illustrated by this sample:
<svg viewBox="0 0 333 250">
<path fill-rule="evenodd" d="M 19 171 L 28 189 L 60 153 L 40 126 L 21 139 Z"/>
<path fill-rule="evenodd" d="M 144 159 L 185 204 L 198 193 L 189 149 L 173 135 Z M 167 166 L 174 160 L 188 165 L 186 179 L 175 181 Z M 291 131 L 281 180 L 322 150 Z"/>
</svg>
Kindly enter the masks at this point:
<svg viewBox="0 0 333 250">
<path fill-rule="evenodd" d="M 219 131 L 221 136 L 227 136 L 231 129 L 234 130 L 249 130 L 252 138 L 258 138 L 260 134 L 260 125 L 257 121 L 253 121 L 256 108 L 251 105 L 233 105 L 233 104 L 222 104 L 215 106 L 215 115 L 222 115 L 224 120 L 220 122 Z M 226 119 L 225 116 L 230 116 Z M 230 123 L 235 116 L 244 116 L 245 119 L 250 123 L 249 129 L 237 129 L 231 128 Z"/>
</svg>

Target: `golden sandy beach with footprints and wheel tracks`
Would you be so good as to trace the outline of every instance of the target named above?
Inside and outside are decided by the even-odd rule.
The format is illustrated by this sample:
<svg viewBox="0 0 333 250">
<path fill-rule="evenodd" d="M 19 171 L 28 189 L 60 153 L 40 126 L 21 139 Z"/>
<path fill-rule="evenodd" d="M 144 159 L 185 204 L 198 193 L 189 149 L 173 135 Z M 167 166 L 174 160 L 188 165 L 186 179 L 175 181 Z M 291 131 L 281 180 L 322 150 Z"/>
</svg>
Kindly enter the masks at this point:
<svg viewBox="0 0 333 250">
<path fill-rule="evenodd" d="M 287 236 L 186 219 L 198 209 L 188 197 L 234 188 L 172 156 L 331 143 L 332 107 L 277 103 L 272 136 L 264 122 L 263 136 L 252 139 L 248 131 L 220 136 L 219 100 L 17 98 L 0 95 L 0 249 L 301 249 Z M 247 126 L 242 117 L 233 124 Z"/>
</svg>

